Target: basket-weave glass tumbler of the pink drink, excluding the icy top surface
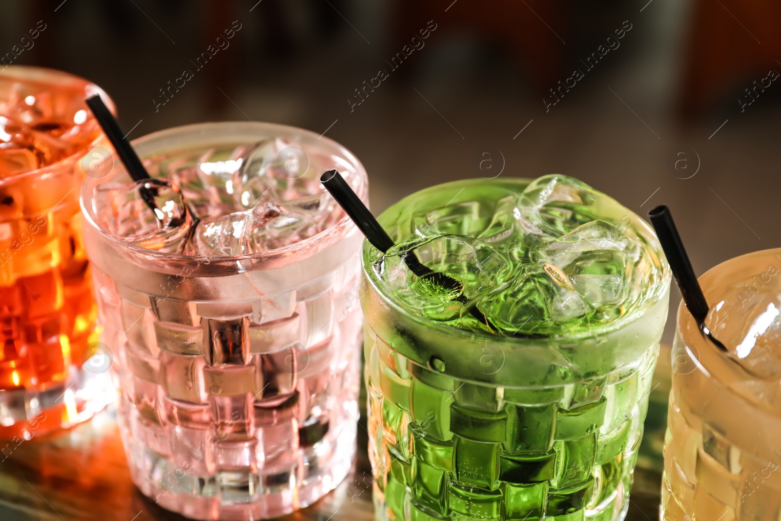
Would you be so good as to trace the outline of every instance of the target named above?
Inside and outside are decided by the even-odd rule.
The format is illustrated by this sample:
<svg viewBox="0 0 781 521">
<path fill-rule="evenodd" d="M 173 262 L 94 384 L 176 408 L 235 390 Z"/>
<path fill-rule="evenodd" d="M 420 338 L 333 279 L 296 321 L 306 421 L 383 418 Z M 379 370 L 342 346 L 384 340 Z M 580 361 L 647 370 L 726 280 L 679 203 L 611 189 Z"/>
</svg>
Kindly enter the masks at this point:
<svg viewBox="0 0 781 521">
<path fill-rule="evenodd" d="M 351 170 L 350 152 L 306 130 L 206 123 L 134 141 L 155 156 L 220 144 L 295 139 Z M 119 428 L 134 483 L 195 519 L 280 516 L 316 501 L 355 454 L 362 236 L 344 217 L 313 237 L 251 255 L 170 255 L 98 226 L 84 186 L 87 252 L 103 339 L 112 350 Z M 216 164 L 216 163 L 215 163 Z"/>
</svg>

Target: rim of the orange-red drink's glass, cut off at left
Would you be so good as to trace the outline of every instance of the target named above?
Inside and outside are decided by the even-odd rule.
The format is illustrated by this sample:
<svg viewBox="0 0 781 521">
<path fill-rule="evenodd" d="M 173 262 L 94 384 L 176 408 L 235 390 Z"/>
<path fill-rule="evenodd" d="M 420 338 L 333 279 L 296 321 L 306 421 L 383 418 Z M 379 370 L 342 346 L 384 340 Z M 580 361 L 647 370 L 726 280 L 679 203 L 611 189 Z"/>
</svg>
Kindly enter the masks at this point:
<svg viewBox="0 0 781 521">
<path fill-rule="evenodd" d="M 20 74 L 15 74 L 15 73 L 20 73 Z M 30 80 L 29 77 L 24 76 L 24 73 L 33 73 L 36 75 L 40 75 L 40 78 Z M 114 101 L 112 100 L 112 98 L 110 98 L 109 95 L 106 94 L 106 92 L 101 87 L 98 87 L 98 85 L 92 83 L 90 80 L 87 80 L 86 78 L 77 76 L 75 74 L 66 73 L 65 71 L 57 70 L 57 69 L 49 69 L 48 67 L 38 67 L 38 66 L 28 66 L 28 65 L 9 65 L 6 66 L 5 69 L 0 70 L 0 80 L 2 80 L 3 77 L 14 78 L 18 80 L 20 83 L 27 82 L 27 84 L 44 85 L 50 83 L 47 81 L 47 79 L 57 79 L 57 78 L 62 80 L 71 80 L 80 83 L 84 87 L 84 98 L 87 98 L 90 95 L 94 95 L 94 94 L 100 95 L 105 105 L 109 107 L 111 113 L 114 116 L 116 116 L 116 105 L 114 105 Z M 56 86 L 55 82 L 51 82 L 51 84 Z M 2 116 L 2 114 L 0 114 L 0 116 Z M 59 159 L 59 161 L 57 162 L 53 162 L 51 165 L 41 166 L 35 170 L 30 170 L 24 173 L 18 173 L 15 176 L 6 177 L 5 179 L 0 179 L 0 187 L 2 187 L 5 184 L 11 184 L 16 180 L 20 180 L 25 177 L 43 177 L 48 173 L 54 173 L 56 170 L 60 170 L 63 166 L 70 165 L 70 163 L 76 163 L 79 159 L 81 159 L 84 156 L 85 152 L 89 151 L 91 148 L 95 148 L 95 146 L 97 146 L 102 141 L 102 139 L 103 139 L 103 132 L 100 131 L 98 132 L 98 135 L 95 137 L 94 140 L 85 144 L 79 150 L 73 152 L 73 154 L 68 155 L 62 159 Z"/>
</svg>

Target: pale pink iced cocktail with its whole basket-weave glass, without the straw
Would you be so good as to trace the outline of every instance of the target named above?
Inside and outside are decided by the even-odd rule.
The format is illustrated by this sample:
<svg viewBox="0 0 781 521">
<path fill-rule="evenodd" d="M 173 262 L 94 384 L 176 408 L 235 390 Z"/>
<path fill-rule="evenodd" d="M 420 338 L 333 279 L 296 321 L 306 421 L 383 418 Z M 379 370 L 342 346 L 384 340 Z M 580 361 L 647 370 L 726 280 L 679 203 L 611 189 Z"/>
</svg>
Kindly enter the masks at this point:
<svg viewBox="0 0 781 521">
<path fill-rule="evenodd" d="M 82 191 L 105 351 L 134 482 L 195 519 L 280 516 L 355 454 L 362 236 L 323 192 L 365 201 L 350 152 L 306 130 L 206 123 L 134 141 Z"/>
</svg>

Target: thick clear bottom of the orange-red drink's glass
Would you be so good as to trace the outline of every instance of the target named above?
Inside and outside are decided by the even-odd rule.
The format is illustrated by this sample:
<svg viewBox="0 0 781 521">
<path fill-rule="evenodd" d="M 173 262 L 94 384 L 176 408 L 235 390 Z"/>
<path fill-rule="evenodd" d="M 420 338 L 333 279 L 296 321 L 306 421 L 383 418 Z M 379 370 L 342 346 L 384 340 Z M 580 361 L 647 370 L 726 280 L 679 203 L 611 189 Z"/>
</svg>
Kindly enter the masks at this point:
<svg viewBox="0 0 781 521">
<path fill-rule="evenodd" d="M 0 439 L 30 440 L 84 422 L 109 405 L 116 392 L 107 373 L 71 366 L 68 379 L 45 389 L 0 391 Z"/>
</svg>

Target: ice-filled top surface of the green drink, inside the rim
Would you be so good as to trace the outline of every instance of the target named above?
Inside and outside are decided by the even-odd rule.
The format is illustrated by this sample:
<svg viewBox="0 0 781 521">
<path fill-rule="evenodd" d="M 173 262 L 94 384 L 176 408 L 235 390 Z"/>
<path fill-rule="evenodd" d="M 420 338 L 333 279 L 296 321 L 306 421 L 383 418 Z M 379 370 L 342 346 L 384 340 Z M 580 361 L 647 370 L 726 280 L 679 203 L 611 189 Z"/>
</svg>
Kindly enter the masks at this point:
<svg viewBox="0 0 781 521">
<path fill-rule="evenodd" d="M 397 245 L 373 267 L 391 300 L 419 316 L 484 331 L 469 312 L 476 308 L 493 334 L 571 335 L 615 323 L 658 287 L 660 262 L 631 226 L 639 218 L 580 181 L 548 176 L 519 187 L 497 180 L 465 187 L 455 202 L 449 194 L 383 213 Z M 456 277 L 465 298 L 455 302 L 449 288 L 409 273 L 407 252 Z M 391 280 L 400 273 L 408 284 Z"/>
</svg>

